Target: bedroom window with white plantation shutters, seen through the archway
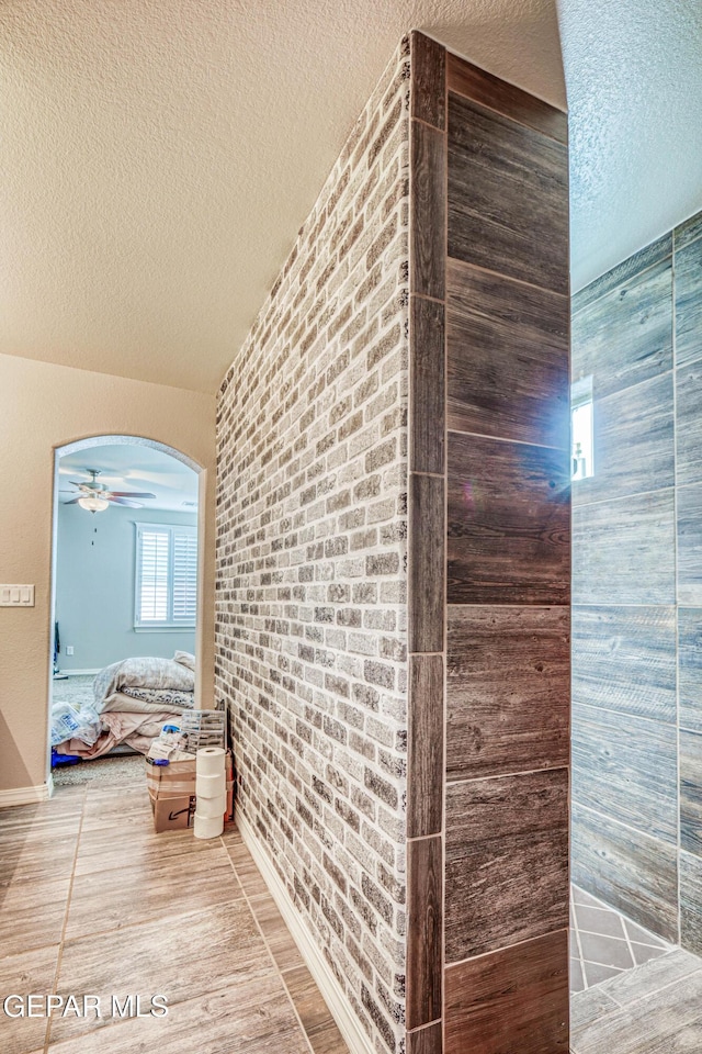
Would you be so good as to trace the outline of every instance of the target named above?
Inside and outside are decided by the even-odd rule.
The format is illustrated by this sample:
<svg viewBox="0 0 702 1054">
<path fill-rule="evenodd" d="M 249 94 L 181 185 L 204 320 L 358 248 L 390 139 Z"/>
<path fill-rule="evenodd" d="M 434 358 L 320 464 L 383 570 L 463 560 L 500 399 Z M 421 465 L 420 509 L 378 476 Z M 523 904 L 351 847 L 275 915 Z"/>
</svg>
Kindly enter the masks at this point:
<svg viewBox="0 0 702 1054">
<path fill-rule="evenodd" d="M 134 626 L 192 628 L 197 604 L 197 528 L 136 524 Z"/>
</svg>

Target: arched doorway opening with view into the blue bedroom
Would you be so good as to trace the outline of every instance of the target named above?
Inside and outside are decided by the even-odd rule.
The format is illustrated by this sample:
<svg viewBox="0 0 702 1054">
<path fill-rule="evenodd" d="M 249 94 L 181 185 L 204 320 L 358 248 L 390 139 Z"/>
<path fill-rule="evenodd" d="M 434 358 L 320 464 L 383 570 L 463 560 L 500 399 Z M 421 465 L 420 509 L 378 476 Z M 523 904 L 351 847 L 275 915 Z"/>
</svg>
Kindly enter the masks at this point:
<svg viewBox="0 0 702 1054">
<path fill-rule="evenodd" d="M 133 436 L 55 451 L 48 766 L 118 785 L 195 698 L 201 467 Z"/>
</svg>

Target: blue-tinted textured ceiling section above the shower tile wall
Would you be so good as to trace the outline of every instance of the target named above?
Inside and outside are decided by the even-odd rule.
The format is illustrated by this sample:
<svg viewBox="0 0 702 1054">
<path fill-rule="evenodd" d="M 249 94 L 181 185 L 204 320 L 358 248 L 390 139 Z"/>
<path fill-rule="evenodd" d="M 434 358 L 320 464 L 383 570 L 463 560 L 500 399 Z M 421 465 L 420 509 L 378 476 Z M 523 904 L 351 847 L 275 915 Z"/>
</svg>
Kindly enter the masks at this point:
<svg viewBox="0 0 702 1054">
<path fill-rule="evenodd" d="M 700 0 L 559 0 L 577 290 L 702 209 Z"/>
</svg>

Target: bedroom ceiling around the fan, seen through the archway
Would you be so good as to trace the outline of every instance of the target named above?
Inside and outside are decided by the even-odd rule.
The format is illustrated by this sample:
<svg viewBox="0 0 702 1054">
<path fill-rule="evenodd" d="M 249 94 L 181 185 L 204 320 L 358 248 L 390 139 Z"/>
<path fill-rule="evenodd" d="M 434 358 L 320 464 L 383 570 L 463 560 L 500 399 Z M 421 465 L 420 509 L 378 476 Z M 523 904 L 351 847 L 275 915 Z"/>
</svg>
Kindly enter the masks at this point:
<svg viewBox="0 0 702 1054">
<path fill-rule="evenodd" d="M 67 453 L 59 460 L 59 502 L 77 496 L 70 481 L 90 483 L 88 469 L 100 469 L 99 483 L 110 491 L 150 493 L 155 498 L 135 498 L 144 508 L 178 513 L 197 512 L 197 473 L 193 469 L 147 446 L 110 444 Z M 194 502 L 195 505 L 184 505 Z M 105 509 L 109 514 L 110 509 Z"/>
</svg>

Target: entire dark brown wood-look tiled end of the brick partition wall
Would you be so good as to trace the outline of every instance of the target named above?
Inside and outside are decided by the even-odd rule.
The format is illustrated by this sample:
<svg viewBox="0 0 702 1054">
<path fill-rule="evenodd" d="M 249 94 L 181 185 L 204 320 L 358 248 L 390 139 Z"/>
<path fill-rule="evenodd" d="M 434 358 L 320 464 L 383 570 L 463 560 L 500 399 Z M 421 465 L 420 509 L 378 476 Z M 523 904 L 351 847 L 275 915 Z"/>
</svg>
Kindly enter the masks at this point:
<svg viewBox="0 0 702 1054">
<path fill-rule="evenodd" d="M 407 1050 L 565 1054 L 567 122 L 411 67 Z"/>
</svg>

